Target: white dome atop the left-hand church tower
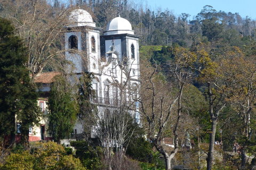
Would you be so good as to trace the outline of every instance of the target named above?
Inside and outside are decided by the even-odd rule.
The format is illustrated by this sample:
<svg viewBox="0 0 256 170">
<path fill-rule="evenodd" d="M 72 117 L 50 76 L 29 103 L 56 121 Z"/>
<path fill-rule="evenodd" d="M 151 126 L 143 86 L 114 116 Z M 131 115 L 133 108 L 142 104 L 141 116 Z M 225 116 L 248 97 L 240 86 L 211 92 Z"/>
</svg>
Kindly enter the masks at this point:
<svg viewBox="0 0 256 170">
<path fill-rule="evenodd" d="M 92 20 L 92 16 L 89 12 L 77 9 L 71 12 L 69 16 L 70 27 L 77 27 L 77 26 L 90 26 L 96 27 L 95 22 Z"/>
</svg>

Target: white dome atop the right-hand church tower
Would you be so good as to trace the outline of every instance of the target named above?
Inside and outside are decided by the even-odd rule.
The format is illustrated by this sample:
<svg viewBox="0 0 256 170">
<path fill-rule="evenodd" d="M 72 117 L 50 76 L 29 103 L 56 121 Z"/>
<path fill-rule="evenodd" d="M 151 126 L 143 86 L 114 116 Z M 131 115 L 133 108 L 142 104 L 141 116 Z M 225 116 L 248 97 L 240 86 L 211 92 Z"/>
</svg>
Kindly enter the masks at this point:
<svg viewBox="0 0 256 170">
<path fill-rule="evenodd" d="M 128 20 L 118 16 L 108 23 L 104 35 L 107 36 L 122 33 L 130 33 L 134 35 L 131 23 Z"/>
</svg>

